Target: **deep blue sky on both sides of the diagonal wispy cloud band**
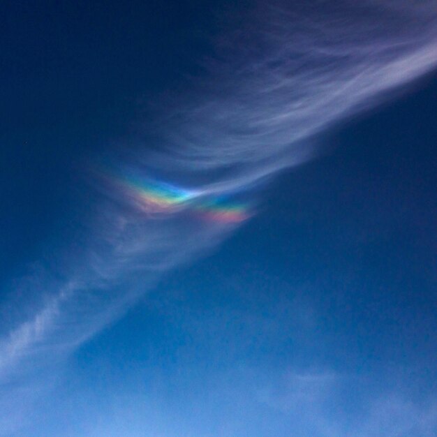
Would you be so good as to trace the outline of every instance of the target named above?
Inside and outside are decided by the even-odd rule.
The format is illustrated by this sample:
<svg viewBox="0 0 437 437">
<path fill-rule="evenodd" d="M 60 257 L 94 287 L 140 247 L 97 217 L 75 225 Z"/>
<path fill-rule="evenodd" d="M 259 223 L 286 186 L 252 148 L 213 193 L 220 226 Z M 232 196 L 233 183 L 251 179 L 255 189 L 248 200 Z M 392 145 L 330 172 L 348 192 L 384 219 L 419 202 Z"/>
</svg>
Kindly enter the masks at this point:
<svg viewBox="0 0 437 437">
<path fill-rule="evenodd" d="M 43 3 L 0 6 L 0 303 L 31 263 L 74 245 L 93 201 L 82 163 L 137 135 L 232 15 L 232 2 Z M 284 369 L 361 378 L 327 408 L 346 429 L 387 391 L 432 403 L 436 96 L 431 74 L 320 138 L 326 153 L 280 175 L 258 216 L 77 350 L 63 389 L 16 435 L 172 437 L 175 423 L 179 436 L 293 435 L 283 409 L 243 396 Z M 105 411 L 114 434 L 98 431 Z"/>
</svg>

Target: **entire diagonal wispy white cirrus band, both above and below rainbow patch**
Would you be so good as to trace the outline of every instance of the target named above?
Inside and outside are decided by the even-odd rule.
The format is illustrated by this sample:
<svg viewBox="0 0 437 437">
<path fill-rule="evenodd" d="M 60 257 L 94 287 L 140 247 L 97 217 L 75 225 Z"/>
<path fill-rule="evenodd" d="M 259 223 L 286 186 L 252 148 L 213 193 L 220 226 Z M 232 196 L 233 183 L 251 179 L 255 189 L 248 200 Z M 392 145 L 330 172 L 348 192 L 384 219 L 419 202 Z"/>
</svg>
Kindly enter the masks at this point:
<svg viewBox="0 0 437 437">
<path fill-rule="evenodd" d="M 253 202 L 259 184 L 316 153 L 321 132 L 437 64 L 434 1 L 277 2 L 255 7 L 243 23 L 218 41 L 207 77 L 164 111 L 162 146 L 139 145 L 112 164 L 139 175 L 143 192 L 152 175 L 171 179 L 172 193 L 203 197 L 152 214 L 144 193 L 101 184 L 73 279 L 35 290 L 42 303 L 34 316 L 1 340 L 0 379 L 27 368 L 27 357 L 44 366 L 68 354 L 163 273 L 213 249 L 238 225 L 190 216 L 193 205 L 223 217 L 216 205 Z"/>
</svg>

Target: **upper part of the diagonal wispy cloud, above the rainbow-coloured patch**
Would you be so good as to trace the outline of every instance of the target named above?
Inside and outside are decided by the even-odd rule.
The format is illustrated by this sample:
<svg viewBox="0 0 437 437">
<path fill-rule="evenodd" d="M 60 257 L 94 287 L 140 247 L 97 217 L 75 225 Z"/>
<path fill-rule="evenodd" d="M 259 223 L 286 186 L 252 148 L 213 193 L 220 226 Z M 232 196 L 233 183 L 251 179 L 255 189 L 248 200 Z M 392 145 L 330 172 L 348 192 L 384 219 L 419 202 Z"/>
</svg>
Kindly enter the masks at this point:
<svg viewBox="0 0 437 437">
<path fill-rule="evenodd" d="M 311 157 L 302 142 L 436 66 L 434 2 L 340 4 L 260 7 L 225 38 L 212 79 L 167 119 L 156 168 L 240 190 Z"/>
</svg>

